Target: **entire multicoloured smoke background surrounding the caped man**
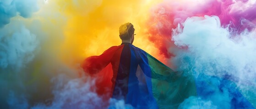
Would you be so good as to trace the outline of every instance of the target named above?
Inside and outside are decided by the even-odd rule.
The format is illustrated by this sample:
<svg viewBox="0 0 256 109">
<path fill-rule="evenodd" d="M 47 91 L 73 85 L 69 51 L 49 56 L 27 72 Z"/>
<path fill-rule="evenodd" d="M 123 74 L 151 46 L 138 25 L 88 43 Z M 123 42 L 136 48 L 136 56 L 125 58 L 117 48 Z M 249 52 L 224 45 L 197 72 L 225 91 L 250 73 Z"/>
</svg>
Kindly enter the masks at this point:
<svg viewBox="0 0 256 109">
<path fill-rule="evenodd" d="M 198 83 L 202 76 L 212 80 L 204 90 L 213 94 L 190 97 L 179 108 L 230 108 L 231 88 L 255 107 L 255 11 L 255 0 L 0 1 L 0 108 L 107 105 L 80 63 L 120 45 L 118 29 L 126 22 L 136 29 L 135 46 Z M 223 81 L 212 76 L 232 84 L 219 91 Z M 122 100 L 110 104 L 132 108 Z"/>
</svg>

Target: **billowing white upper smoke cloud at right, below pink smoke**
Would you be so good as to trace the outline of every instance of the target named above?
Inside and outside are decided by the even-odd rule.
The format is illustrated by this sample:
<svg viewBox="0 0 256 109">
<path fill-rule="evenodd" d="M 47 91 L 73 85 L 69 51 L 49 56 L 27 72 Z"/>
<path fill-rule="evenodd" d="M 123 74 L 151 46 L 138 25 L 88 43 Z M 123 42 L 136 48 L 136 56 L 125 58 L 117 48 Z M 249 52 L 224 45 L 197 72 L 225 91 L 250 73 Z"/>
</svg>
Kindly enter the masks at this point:
<svg viewBox="0 0 256 109">
<path fill-rule="evenodd" d="M 178 52 L 173 61 L 181 60 L 180 69 L 193 69 L 197 73 L 253 79 L 255 35 L 256 32 L 246 30 L 234 35 L 230 29 L 221 27 L 217 16 L 191 17 L 174 30 L 175 45 L 187 50 Z"/>
</svg>

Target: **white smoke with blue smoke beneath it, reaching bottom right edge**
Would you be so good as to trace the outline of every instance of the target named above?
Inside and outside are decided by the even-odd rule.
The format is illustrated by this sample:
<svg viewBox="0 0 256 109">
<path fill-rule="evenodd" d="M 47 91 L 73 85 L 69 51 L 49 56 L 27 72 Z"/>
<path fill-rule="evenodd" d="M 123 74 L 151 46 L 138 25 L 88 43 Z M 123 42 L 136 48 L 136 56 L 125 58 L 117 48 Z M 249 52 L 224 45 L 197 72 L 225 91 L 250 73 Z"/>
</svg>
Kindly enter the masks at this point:
<svg viewBox="0 0 256 109">
<path fill-rule="evenodd" d="M 200 99 L 203 106 L 232 108 L 234 98 L 237 103 L 244 104 L 247 99 L 256 106 L 255 36 L 256 31 L 238 34 L 221 26 L 217 16 L 191 17 L 174 29 L 172 40 L 182 49 L 174 52 L 176 56 L 171 61 L 178 70 L 198 77 L 197 91 L 205 94 Z M 193 107 L 195 104 L 188 104 L 189 100 L 193 98 L 186 99 L 181 107 Z"/>
</svg>

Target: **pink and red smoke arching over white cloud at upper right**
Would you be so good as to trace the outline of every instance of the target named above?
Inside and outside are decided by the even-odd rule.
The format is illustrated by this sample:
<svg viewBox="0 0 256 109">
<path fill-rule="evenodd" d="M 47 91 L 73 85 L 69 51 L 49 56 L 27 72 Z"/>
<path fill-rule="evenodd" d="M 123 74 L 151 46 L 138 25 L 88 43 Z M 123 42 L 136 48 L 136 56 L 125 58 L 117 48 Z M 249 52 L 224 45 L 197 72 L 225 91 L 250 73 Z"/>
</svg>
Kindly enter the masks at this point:
<svg viewBox="0 0 256 109">
<path fill-rule="evenodd" d="M 220 18 L 221 26 L 229 26 L 232 32 L 241 33 L 244 30 L 254 30 L 251 24 L 256 23 L 255 10 L 255 0 L 163 0 L 151 9 L 147 23 L 149 40 L 165 58 L 170 58 L 174 56 L 173 50 L 176 48 L 170 40 L 172 30 L 188 17 L 216 15 Z"/>
</svg>

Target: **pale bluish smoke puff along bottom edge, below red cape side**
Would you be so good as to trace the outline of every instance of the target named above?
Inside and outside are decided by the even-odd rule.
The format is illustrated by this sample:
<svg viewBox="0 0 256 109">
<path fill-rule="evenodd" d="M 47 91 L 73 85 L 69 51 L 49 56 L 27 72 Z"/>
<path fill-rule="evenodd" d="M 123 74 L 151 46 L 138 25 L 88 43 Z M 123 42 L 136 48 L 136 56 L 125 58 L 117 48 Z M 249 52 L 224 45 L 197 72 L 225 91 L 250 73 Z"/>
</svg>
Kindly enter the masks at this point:
<svg viewBox="0 0 256 109">
<path fill-rule="evenodd" d="M 133 109 L 124 100 L 104 101 L 95 92 L 95 81 L 90 77 L 69 79 L 67 75 L 60 74 L 52 82 L 54 98 L 51 104 L 38 103 L 32 109 Z"/>
</svg>

